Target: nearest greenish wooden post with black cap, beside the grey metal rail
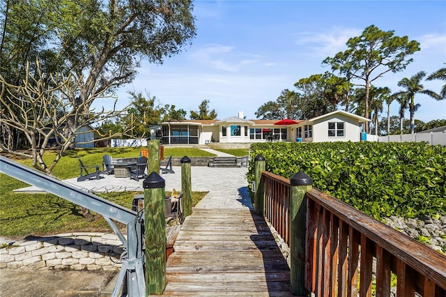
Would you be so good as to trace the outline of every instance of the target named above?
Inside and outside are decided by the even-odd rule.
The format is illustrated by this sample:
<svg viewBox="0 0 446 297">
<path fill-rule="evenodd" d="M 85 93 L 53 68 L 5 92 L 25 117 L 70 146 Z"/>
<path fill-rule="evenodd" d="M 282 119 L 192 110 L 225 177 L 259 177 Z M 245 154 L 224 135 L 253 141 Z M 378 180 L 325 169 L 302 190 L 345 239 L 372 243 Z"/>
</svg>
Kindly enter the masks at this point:
<svg viewBox="0 0 446 297">
<path fill-rule="evenodd" d="M 164 179 L 152 172 L 143 182 L 146 236 L 146 296 L 166 287 L 166 220 Z"/>
</svg>

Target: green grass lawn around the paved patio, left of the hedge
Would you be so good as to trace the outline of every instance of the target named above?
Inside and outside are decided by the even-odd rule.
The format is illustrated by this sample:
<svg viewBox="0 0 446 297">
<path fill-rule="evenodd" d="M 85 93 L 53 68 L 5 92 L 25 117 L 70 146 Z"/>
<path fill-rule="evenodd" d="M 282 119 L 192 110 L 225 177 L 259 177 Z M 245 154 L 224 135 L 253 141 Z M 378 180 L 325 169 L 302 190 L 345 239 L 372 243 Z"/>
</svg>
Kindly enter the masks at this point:
<svg viewBox="0 0 446 297">
<path fill-rule="evenodd" d="M 102 164 L 102 155 L 114 158 L 138 157 L 141 148 L 89 148 L 68 151 L 54 168 L 54 176 L 60 179 L 79 176 L 79 161 L 85 165 Z M 54 151 L 48 151 L 45 162 L 53 160 Z M 164 155 L 174 157 L 208 156 L 206 151 L 197 148 L 165 148 Z M 31 166 L 31 160 L 17 160 Z M 102 215 L 84 212 L 80 206 L 52 194 L 15 194 L 13 190 L 28 186 L 22 181 L 0 174 L 0 236 L 22 237 L 27 235 L 51 235 L 70 231 L 112 232 Z M 100 197 L 114 201 L 121 206 L 132 208 L 134 195 L 142 192 L 112 192 Z M 192 192 L 192 205 L 200 201 L 207 192 Z M 166 192 L 169 196 L 170 192 Z"/>
</svg>

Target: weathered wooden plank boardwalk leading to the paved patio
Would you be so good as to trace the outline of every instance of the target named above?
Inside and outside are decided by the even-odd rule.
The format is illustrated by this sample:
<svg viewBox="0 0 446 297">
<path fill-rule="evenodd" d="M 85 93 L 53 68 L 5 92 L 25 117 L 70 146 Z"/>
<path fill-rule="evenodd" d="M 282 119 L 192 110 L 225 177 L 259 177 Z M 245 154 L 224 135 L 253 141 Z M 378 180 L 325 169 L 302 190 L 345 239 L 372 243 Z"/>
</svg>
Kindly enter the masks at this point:
<svg viewBox="0 0 446 297">
<path fill-rule="evenodd" d="M 194 208 L 167 261 L 166 296 L 293 296 L 290 272 L 263 217 Z"/>
</svg>

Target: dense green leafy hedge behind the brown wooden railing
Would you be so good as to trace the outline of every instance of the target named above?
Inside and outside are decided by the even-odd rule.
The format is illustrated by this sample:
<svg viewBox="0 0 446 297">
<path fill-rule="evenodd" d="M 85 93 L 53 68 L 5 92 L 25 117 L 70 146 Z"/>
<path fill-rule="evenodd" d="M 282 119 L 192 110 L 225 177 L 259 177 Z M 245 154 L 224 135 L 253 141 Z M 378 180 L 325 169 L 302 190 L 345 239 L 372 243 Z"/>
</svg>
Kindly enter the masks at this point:
<svg viewBox="0 0 446 297">
<path fill-rule="evenodd" d="M 286 178 L 303 171 L 314 188 L 374 216 L 417 218 L 446 213 L 446 148 L 426 143 L 323 142 L 259 143 L 251 146 L 247 178 L 254 179 L 254 158 Z"/>
</svg>

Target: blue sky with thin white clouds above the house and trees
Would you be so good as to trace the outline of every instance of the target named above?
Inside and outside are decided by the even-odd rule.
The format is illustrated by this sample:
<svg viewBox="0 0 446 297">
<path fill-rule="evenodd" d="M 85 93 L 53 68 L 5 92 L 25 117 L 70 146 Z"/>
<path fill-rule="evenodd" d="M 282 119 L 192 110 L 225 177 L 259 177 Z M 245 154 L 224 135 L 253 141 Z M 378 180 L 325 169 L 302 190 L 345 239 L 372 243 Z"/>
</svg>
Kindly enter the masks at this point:
<svg viewBox="0 0 446 297">
<path fill-rule="evenodd" d="M 239 111 L 256 119 L 254 112 L 282 90 L 330 70 L 323 59 L 346 50 L 348 38 L 371 24 L 421 47 L 406 70 L 386 73 L 374 85 L 400 91 L 401 78 L 420 70 L 429 75 L 446 63 L 446 1 L 194 1 L 194 15 L 192 45 L 162 65 L 144 62 L 134 82 L 118 91 L 119 107 L 130 102 L 126 92 L 137 91 L 186 111 L 208 99 L 218 119 Z M 423 84 L 438 92 L 445 82 Z M 446 100 L 419 95 L 415 102 L 422 105 L 415 119 L 446 119 Z M 398 108 L 393 103 L 391 115 Z"/>
</svg>

